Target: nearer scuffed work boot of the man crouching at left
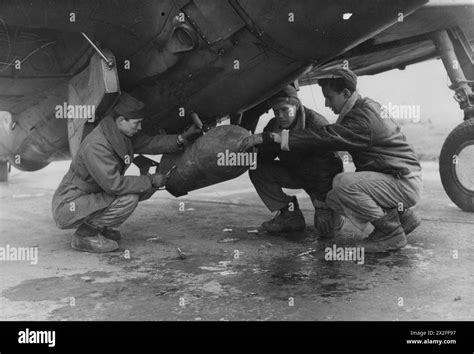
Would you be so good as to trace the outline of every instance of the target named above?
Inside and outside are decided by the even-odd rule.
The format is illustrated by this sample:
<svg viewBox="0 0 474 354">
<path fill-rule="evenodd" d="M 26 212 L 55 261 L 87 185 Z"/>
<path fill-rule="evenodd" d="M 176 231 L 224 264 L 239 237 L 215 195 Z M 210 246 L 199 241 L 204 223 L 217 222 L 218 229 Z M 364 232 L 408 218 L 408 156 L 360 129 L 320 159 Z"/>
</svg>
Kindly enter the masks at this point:
<svg viewBox="0 0 474 354">
<path fill-rule="evenodd" d="M 99 228 L 82 223 L 72 235 L 71 247 L 78 251 L 92 253 L 112 252 L 118 249 L 117 242 L 106 239 L 99 231 Z"/>
</svg>

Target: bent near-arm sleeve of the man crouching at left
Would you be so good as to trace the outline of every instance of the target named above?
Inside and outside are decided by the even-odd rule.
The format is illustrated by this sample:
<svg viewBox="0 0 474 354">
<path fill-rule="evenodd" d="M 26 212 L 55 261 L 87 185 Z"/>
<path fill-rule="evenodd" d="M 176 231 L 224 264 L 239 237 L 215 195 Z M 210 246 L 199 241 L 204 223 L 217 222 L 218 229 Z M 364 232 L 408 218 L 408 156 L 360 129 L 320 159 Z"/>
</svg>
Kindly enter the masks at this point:
<svg viewBox="0 0 474 354">
<path fill-rule="evenodd" d="M 84 164 L 97 184 L 110 195 L 139 194 L 152 187 L 148 176 L 123 176 L 113 154 L 102 145 L 84 149 Z"/>
</svg>

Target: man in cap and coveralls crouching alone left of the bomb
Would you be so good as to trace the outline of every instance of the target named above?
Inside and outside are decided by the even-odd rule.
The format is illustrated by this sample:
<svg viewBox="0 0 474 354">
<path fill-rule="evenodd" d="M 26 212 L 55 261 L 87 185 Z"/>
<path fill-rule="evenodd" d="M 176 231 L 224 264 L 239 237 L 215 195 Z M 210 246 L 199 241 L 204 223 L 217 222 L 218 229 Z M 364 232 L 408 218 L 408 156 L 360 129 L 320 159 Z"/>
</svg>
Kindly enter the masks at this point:
<svg viewBox="0 0 474 354">
<path fill-rule="evenodd" d="M 124 176 L 134 153 L 177 152 L 200 135 L 194 126 L 182 135 L 137 134 L 143 108 L 142 102 L 123 93 L 112 113 L 84 138 L 53 196 L 56 225 L 77 228 L 71 241 L 76 250 L 116 250 L 121 234 L 112 227 L 121 225 L 139 201 L 166 184 L 167 177 L 161 174 Z"/>
</svg>

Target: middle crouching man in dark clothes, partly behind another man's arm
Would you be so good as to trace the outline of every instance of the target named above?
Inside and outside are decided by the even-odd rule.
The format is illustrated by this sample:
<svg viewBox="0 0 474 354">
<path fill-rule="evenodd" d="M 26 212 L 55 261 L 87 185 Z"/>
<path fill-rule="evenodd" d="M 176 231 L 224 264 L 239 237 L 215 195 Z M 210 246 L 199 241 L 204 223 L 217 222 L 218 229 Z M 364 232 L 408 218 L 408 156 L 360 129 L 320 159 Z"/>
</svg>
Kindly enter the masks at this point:
<svg viewBox="0 0 474 354">
<path fill-rule="evenodd" d="M 286 195 L 282 189 L 289 188 L 304 189 L 308 193 L 315 207 L 314 225 L 321 235 L 335 232 L 342 228 L 343 219 L 333 220 L 335 216 L 325 199 L 334 176 L 342 172 L 338 155 L 304 146 L 284 151 L 271 138 L 272 134 L 283 130 L 315 129 L 329 124 L 328 121 L 304 107 L 293 86 L 287 86 L 267 103 L 273 108 L 275 118 L 270 120 L 263 133 L 246 138 L 241 146 L 242 151 L 259 146 L 257 168 L 249 171 L 250 180 L 268 209 L 278 211 L 275 218 L 262 224 L 262 228 L 268 232 L 305 229 L 306 223 L 296 197 Z M 277 157 L 279 160 L 275 160 Z"/>
</svg>

